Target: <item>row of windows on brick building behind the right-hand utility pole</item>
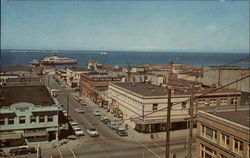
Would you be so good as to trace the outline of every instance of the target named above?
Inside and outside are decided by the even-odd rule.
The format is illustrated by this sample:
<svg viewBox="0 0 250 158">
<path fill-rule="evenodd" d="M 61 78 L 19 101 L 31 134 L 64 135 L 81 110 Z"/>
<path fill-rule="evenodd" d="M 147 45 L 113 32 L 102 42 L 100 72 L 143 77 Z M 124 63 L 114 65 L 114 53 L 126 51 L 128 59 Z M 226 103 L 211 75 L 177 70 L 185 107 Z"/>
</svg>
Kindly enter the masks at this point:
<svg viewBox="0 0 250 158">
<path fill-rule="evenodd" d="M 227 98 L 221 98 L 219 100 L 220 105 L 228 105 L 228 99 Z M 238 98 L 231 98 L 231 105 L 237 105 L 238 104 Z M 217 105 L 217 100 L 216 99 L 209 99 L 206 101 L 205 99 L 198 100 L 197 101 L 198 106 L 216 106 Z"/>
</svg>

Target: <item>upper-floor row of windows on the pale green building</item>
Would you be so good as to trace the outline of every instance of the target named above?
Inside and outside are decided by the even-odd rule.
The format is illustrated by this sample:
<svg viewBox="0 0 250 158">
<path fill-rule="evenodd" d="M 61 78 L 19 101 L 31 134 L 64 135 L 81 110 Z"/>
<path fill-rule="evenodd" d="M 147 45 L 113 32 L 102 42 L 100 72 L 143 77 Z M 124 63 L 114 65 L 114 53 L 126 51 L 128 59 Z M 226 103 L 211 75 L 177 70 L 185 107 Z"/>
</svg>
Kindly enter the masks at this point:
<svg viewBox="0 0 250 158">
<path fill-rule="evenodd" d="M 20 116 L 19 117 L 19 124 L 25 124 L 26 116 Z M 47 116 L 48 122 L 53 122 L 53 115 Z M 14 118 L 8 118 L 8 125 L 13 125 L 14 124 Z M 40 116 L 39 117 L 39 123 L 45 122 L 45 116 Z M 30 123 L 38 123 L 36 120 L 36 116 L 30 116 Z M 0 125 L 5 125 L 5 119 L 0 119 Z"/>
</svg>

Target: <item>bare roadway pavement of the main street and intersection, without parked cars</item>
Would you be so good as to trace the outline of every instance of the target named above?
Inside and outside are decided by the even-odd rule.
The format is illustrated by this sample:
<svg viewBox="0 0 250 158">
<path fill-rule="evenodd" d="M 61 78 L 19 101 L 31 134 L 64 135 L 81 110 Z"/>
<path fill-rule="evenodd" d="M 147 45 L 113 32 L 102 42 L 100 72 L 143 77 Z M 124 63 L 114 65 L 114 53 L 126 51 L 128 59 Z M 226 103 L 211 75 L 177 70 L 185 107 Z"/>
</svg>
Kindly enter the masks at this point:
<svg viewBox="0 0 250 158">
<path fill-rule="evenodd" d="M 86 129 L 94 127 L 100 133 L 99 137 L 90 137 L 87 134 L 75 140 L 77 145 L 65 144 L 59 148 L 42 150 L 43 157 L 59 158 L 164 158 L 165 140 L 129 140 L 118 136 L 114 130 L 100 121 L 100 118 L 92 114 L 93 109 L 98 108 L 94 103 L 88 102 L 88 106 L 81 106 L 72 96 L 72 88 L 62 88 L 52 77 L 45 76 L 46 85 L 50 89 L 59 89 L 57 99 L 64 110 L 67 109 L 69 99 L 69 115 L 79 124 L 86 134 Z M 62 82 L 62 81 L 61 81 Z M 65 84 L 65 83 L 63 83 Z M 90 106 L 91 105 L 91 106 Z M 78 113 L 75 108 L 81 107 L 85 113 Z M 177 153 L 177 157 L 184 157 L 185 138 L 177 138 L 171 141 L 171 152 Z M 74 144 L 74 143 L 73 143 Z M 179 155 L 179 156 L 178 156 Z"/>
</svg>

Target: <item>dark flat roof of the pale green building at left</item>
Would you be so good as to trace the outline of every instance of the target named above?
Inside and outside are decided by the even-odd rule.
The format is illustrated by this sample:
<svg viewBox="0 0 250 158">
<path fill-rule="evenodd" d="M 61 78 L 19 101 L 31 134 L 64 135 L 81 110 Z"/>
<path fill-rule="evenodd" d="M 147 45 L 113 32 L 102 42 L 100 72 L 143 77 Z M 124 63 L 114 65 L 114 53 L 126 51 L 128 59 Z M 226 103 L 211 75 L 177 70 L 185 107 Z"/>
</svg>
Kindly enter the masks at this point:
<svg viewBox="0 0 250 158">
<path fill-rule="evenodd" d="M 29 102 L 35 105 L 50 106 L 54 104 L 47 88 L 39 86 L 5 86 L 0 91 L 0 107 L 17 102 Z"/>
</svg>

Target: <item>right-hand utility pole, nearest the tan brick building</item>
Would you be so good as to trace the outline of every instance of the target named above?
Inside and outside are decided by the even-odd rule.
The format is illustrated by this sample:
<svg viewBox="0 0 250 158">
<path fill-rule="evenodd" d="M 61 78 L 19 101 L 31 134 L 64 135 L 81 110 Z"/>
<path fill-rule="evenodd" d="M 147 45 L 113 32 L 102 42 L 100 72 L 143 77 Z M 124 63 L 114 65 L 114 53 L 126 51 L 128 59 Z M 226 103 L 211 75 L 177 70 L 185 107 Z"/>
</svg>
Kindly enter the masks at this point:
<svg viewBox="0 0 250 158">
<path fill-rule="evenodd" d="M 194 122 L 194 85 L 192 85 L 192 94 L 190 98 L 190 123 L 189 123 L 189 137 L 188 137 L 188 154 L 187 158 L 192 158 L 192 140 L 193 140 L 193 122 Z"/>
</svg>

